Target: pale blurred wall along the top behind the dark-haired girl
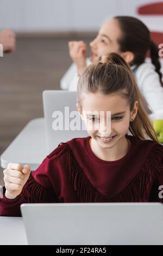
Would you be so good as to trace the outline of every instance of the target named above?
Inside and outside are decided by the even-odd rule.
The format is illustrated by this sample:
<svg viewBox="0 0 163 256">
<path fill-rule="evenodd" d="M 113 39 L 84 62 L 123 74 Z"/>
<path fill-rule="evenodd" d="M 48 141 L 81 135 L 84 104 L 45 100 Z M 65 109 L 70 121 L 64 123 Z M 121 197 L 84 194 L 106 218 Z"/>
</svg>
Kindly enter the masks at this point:
<svg viewBox="0 0 163 256">
<path fill-rule="evenodd" d="M 16 32 L 97 31 L 106 17 L 135 15 L 156 0 L 0 0 L 0 29 Z"/>
</svg>

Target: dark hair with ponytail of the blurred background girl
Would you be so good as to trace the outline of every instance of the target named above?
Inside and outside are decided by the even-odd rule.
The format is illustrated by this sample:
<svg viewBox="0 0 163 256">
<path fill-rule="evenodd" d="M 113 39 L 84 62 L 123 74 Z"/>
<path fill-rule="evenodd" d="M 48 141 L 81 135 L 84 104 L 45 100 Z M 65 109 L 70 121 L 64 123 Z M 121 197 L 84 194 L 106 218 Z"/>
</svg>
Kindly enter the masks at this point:
<svg viewBox="0 0 163 256">
<path fill-rule="evenodd" d="M 145 61 L 146 53 L 149 50 L 151 60 L 155 66 L 155 71 L 159 74 L 160 82 L 162 84 L 162 74 L 160 72 L 161 64 L 159 62 L 159 48 L 151 40 L 151 34 L 146 25 L 130 16 L 116 16 L 115 20 L 120 25 L 122 36 L 118 39 L 120 51 L 131 51 L 134 53 L 134 60 L 132 64 L 140 65 Z"/>
</svg>

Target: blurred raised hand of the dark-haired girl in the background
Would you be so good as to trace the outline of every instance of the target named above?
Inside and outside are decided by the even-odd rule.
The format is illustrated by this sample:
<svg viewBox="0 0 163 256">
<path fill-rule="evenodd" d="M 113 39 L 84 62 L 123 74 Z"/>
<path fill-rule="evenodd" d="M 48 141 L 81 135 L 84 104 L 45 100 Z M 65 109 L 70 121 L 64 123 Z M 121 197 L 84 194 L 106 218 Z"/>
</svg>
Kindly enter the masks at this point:
<svg viewBox="0 0 163 256">
<path fill-rule="evenodd" d="M 70 41 L 68 42 L 70 57 L 76 63 L 78 68 L 78 75 L 86 68 L 86 44 L 84 41 Z"/>
</svg>

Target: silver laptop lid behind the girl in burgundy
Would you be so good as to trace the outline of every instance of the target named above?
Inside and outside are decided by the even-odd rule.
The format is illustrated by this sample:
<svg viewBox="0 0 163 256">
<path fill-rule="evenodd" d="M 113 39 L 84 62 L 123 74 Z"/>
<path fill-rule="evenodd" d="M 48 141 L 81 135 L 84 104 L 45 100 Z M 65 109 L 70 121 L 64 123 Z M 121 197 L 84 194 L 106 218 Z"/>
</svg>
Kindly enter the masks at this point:
<svg viewBox="0 0 163 256">
<path fill-rule="evenodd" d="M 69 141 L 72 138 L 89 136 L 84 122 L 77 112 L 76 103 L 76 92 L 63 90 L 45 90 L 43 92 L 48 153 L 57 148 L 61 142 Z M 76 121 L 78 121 L 78 126 Z M 82 130 L 82 127 L 85 130 Z M 74 130 L 76 128 L 80 130 Z"/>
</svg>

